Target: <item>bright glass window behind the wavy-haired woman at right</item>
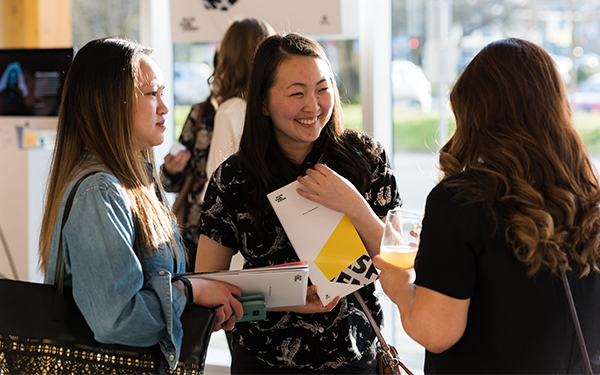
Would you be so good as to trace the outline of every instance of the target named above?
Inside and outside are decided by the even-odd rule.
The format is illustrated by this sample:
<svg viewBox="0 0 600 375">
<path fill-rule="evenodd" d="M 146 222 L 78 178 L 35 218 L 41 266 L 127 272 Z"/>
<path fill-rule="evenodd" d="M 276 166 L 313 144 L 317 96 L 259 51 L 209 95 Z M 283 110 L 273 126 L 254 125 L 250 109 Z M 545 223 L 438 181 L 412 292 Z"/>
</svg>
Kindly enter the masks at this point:
<svg viewBox="0 0 600 375">
<path fill-rule="evenodd" d="M 568 86 L 575 126 L 599 165 L 600 26 L 595 20 L 600 1 L 392 0 L 392 15 L 394 168 L 405 207 L 422 209 L 437 181 L 437 151 L 445 134 L 455 128 L 447 109 L 452 83 L 485 45 L 497 39 L 530 40 L 551 54 Z M 405 69 L 414 69 L 409 63 L 414 64 L 427 82 L 420 78 L 415 83 L 418 89 L 398 88 L 408 85 L 395 71 L 400 63 Z M 414 99 L 426 95 L 429 87 L 431 108 Z M 392 342 L 411 370 L 422 373 L 423 350 L 403 336 L 394 307 L 387 314 L 388 322 L 395 319 Z"/>
</svg>

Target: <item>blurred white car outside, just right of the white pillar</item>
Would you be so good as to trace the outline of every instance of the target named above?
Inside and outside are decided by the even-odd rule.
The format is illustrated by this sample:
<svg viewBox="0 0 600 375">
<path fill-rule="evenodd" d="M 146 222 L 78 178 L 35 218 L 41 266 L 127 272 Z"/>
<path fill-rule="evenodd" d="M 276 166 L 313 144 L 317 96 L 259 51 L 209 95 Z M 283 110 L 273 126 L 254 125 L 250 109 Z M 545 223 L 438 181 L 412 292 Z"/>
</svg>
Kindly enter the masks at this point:
<svg viewBox="0 0 600 375">
<path fill-rule="evenodd" d="M 431 111 L 431 82 L 421 67 L 410 61 L 392 61 L 392 95 L 395 105 L 406 103 Z"/>
</svg>

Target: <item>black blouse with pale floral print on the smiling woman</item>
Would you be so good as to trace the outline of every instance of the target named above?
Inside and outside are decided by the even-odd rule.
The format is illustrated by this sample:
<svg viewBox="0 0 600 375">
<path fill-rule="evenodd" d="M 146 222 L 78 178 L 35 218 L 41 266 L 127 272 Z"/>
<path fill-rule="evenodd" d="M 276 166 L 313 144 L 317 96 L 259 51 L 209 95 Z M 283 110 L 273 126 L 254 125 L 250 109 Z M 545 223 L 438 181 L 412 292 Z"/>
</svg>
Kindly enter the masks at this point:
<svg viewBox="0 0 600 375">
<path fill-rule="evenodd" d="M 372 138 L 379 160 L 372 165 L 370 189 L 364 197 L 375 213 L 383 218 L 387 211 L 401 204 L 394 172 L 383 147 Z M 258 226 L 248 214 L 245 202 L 249 187 L 237 167 L 237 154 L 227 159 L 213 173 L 200 219 L 200 234 L 219 244 L 240 251 L 244 268 L 263 267 L 298 261 L 281 223 L 266 220 Z M 323 152 L 315 145 L 300 171 L 315 163 L 326 163 Z M 337 171 L 344 175 L 344 171 Z M 291 181 L 290 181 L 291 182 Z M 273 209 L 269 207 L 272 212 Z M 373 316 L 382 324 L 383 314 L 373 284 L 360 289 Z M 238 323 L 233 330 L 234 342 L 266 365 L 308 371 L 335 371 L 364 358 L 375 358 L 375 334 L 353 295 L 340 299 L 329 313 L 297 314 L 268 312 L 267 319 Z M 361 363 L 364 363 L 362 361 Z"/>
</svg>

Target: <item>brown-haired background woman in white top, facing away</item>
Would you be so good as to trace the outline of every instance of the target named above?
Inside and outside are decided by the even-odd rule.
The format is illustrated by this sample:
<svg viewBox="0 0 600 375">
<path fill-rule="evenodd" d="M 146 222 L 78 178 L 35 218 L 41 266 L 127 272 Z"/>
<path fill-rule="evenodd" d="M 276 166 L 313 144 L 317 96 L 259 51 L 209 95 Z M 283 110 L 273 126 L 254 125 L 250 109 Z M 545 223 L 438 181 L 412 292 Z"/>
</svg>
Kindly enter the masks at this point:
<svg viewBox="0 0 600 375">
<path fill-rule="evenodd" d="M 265 21 L 246 18 L 235 21 L 225 32 L 217 53 L 219 64 L 210 88 L 217 108 L 206 174 L 237 152 L 246 113 L 246 89 L 254 51 L 275 32 Z"/>
</svg>

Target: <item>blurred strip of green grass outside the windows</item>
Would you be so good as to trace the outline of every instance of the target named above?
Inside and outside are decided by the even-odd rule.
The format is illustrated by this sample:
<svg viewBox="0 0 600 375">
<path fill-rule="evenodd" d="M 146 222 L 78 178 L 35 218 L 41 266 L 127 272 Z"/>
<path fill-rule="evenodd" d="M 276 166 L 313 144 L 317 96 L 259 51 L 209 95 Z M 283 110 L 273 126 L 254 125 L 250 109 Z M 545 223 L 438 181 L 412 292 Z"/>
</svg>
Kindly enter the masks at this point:
<svg viewBox="0 0 600 375">
<path fill-rule="evenodd" d="M 191 106 L 176 106 L 175 139 L 179 138 Z M 344 125 L 349 129 L 362 129 L 362 108 L 360 104 L 345 104 Z M 412 108 L 396 108 L 393 113 L 394 149 L 396 151 L 426 152 L 439 148 L 438 136 L 439 112 L 422 113 Z M 600 155 L 600 113 L 576 112 L 573 123 L 590 154 Z M 452 115 L 448 116 L 448 133 L 456 129 Z"/>
</svg>

